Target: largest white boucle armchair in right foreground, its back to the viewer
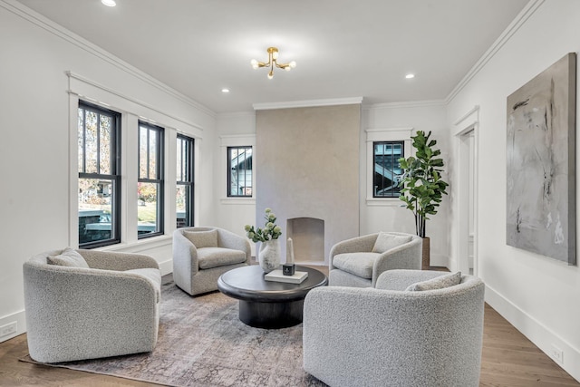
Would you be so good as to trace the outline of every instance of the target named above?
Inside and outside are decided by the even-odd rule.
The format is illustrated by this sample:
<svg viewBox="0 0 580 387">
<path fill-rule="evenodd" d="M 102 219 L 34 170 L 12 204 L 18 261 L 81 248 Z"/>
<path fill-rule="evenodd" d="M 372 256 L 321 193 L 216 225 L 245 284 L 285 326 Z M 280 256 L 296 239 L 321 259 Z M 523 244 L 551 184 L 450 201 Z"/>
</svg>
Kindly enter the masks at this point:
<svg viewBox="0 0 580 387">
<path fill-rule="evenodd" d="M 321 286 L 304 300 L 304 370 L 333 387 L 477 387 L 484 284 L 405 290 L 449 275 L 390 270 L 376 288 Z"/>
</svg>

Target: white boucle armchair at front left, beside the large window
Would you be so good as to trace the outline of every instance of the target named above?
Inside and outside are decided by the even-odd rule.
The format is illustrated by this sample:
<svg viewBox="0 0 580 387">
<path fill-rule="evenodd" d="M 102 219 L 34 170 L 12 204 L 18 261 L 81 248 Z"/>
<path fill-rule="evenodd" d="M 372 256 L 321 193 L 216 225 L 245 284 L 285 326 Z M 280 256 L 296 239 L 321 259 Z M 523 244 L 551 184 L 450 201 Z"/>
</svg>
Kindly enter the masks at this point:
<svg viewBox="0 0 580 387">
<path fill-rule="evenodd" d="M 28 350 L 41 363 L 150 352 L 157 343 L 161 276 L 139 254 L 74 250 L 84 266 L 24 263 Z"/>
</svg>

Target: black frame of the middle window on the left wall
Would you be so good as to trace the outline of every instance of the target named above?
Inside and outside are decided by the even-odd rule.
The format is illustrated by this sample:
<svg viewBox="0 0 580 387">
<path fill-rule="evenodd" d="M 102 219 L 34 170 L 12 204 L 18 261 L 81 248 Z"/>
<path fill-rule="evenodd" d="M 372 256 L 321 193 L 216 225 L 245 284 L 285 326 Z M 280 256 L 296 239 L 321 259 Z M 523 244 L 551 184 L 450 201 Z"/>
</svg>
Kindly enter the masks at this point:
<svg viewBox="0 0 580 387">
<path fill-rule="evenodd" d="M 148 145 L 147 145 L 147 178 L 141 178 L 140 176 L 140 164 L 141 164 L 141 155 L 140 155 L 140 147 L 141 147 L 141 136 L 140 131 L 141 128 L 148 129 Z M 164 234 L 164 226 L 165 226 L 165 128 L 162 128 L 158 125 L 154 125 L 147 121 L 138 121 L 137 125 L 137 184 L 139 183 L 152 183 L 158 184 L 157 190 L 157 217 L 156 217 L 156 229 L 154 232 L 148 232 L 145 234 L 137 234 L 138 239 L 145 239 L 148 237 L 157 237 Z M 157 132 L 157 141 L 155 143 L 155 154 L 157 160 L 155 162 L 155 176 L 157 179 L 150 179 L 150 146 L 149 146 L 149 139 L 150 139 L 150 131 Z M 139 198 L 139 197 L 138 197 Z M 136 219 L 139 222 L 139 218 Z M 139 223 L 138 223 L 139 228 Z"/>
</svg>

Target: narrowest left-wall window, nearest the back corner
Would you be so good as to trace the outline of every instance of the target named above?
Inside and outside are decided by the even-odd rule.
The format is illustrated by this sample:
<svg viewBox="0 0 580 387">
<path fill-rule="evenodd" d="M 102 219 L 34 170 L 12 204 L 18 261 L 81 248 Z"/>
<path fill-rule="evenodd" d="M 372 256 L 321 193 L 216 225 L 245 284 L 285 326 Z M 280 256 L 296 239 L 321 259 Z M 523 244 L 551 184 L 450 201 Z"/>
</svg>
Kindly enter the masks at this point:
<svg viewBox="0 0 580 387">
<path fill-rule="evenodd" d="M 193 139 L 178 134 L 176 211 L 177 227 L 193 226 Z"/>
</svg>

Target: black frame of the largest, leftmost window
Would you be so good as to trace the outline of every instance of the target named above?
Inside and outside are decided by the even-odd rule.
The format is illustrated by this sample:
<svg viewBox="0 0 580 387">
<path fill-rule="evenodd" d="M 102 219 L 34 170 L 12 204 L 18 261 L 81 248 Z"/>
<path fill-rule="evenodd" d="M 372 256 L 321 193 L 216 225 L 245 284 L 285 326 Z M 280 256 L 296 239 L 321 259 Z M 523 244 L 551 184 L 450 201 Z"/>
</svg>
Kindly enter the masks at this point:
<svg viewBox="0 0 580 387">
<path fill-rule="evenodd" d="M 78 245 L 79 248 L 97 248 L 97 247 L 105 247 L 111 246 L 121 243 L 121 113 L 118 111 L 112 111 L 110 109 L 103 108 L 102 106 L 95 105 L 90 102 L 78 101 L 78 108 L 77 108 L 77 135 L 76 135 L 76 143 L 77 143 L 77 150 L 78 150 L 78 111 L 83 111 L 83 131 L 86 132 L 86 111 L 93 111 L 97 114 L 101 115 L 108 115 L 111 117 L 111 173 L 109 174 L 101 174 L 101 173 L 92 173 L 86 172 L 86 141 L 83 140 L 82 145 L 82 166 L 79 165 L 77 167 L 78 173 L 78 180 L 77 180 L 77 193 L 79 191 L 79 182 L 81 179 L 102 179 L 102 180 L 111 180 L 112 186 L 112 193 L 111 193 L 111 237 L 108 239 L 101 239 L 94 242 L 86 242 L 81 243 L 80 235 Z M 100 121 L 97 119 L 97 121 Z M 101 137 L 100 135 L 98 136 Z M 83 139 L 86 139 L 86 134 L 83 136 Z M 97 160 L 101 160 L 101 150 L 98 147 L 97 150 Z M 80 156 L 80 155 L 78 155 Z M 78 157 L 77 156 L 77 157 Z M 100 162 L 97 162 L 97 167 L 100 168 Z M 82 171 L 81 171 L 82 170 Z M 78 198 L 77 198 L 77 218 L 78 217 Z"/>
</svg>

